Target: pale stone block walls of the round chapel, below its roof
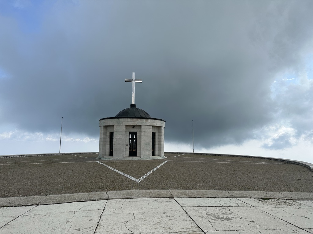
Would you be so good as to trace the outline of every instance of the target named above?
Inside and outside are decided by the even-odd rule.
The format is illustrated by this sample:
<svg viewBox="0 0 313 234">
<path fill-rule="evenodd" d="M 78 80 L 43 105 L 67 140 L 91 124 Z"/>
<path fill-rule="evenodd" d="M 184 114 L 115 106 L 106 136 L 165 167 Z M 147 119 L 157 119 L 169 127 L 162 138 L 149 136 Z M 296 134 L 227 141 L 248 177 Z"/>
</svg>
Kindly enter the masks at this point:
<svg viewBox="0 0 313 234">
<path fill-rule="evenodd" d="M 164 157 L 165 121 L 154 118 L 105 118 L 100 119 L 99 159 L 157 159 Z M 113 148 L 110 133 L 113 132 Z M 129 134 L 136 132 L 136 157 L 129 156 Z M 152 133 L 155 133 L 152 156 Z M 112 139 L 111 139 L 112 140 Z M 110 156 L 110 149 L 113 155 Z"/>
</svg>

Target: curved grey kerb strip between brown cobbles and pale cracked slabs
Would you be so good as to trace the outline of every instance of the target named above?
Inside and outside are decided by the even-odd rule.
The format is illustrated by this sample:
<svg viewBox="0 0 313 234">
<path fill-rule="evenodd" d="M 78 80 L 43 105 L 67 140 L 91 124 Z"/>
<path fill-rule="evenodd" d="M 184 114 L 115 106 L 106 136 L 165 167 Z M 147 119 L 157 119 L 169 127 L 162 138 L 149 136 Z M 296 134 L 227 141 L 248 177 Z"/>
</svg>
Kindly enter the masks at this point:
<svg viewBox="0 0 313 234">
<path fill-rule="evenodd" d="M 86 202 L 110 199 L 176 198 L 176 197 L 313 200 L 313 193 L 228 191 L 228 190 L 183 190 L 183 189 L 122 190 L 122 191 L 57 194 L 57 195 L 30 196 L 30 197 L 3 197 L 0 198 L 0 207 L 49 205 L 69 202 Z"/>
</svg>

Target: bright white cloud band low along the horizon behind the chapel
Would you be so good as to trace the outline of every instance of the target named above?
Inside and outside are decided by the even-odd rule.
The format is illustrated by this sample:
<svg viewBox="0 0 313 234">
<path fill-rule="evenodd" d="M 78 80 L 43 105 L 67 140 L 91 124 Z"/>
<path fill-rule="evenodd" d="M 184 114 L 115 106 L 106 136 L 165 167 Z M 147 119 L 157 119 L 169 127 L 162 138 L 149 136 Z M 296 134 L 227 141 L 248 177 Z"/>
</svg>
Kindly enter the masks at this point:
<svg viewBox="0 0 313 234">
<path fill-rule="evenodd" d="M 284 126 L 271 126 L 269 132 L 273 135 L 269 137 L 268 144 L 280 139 L 281 136 L 295 134 L 294 129 Z M 59 153 L 58 134 L 45 135 L 16 130 L 15 132 L 3 132 L 0 134 L 0 139 L 0 155 Z M 273 150 L 263 146 L 263 140 L 254 139 L 248 140 L 244 144 L 228 144 L 212 148 L 195 146 L 194 152 L 287 158 L 313 163 L 313 133 L 292 142 L 288 149 Z M 165 142 L 164 149 L 166 152 L 192 152 L 192 142 L 190 144 Z M 61 152 L 63 153 L 98 151 L 99 139 L 66 135 L 64 138 L 62 137 Z"/>
</svg>

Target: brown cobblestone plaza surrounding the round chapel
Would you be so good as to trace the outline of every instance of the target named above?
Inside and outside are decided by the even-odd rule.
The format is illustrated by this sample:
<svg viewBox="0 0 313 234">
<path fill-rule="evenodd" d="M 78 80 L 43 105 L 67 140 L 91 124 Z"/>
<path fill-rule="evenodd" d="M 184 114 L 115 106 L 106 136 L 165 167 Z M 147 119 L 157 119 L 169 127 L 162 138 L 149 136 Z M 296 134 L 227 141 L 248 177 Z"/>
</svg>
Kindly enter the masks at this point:
<svg viewBox="0 0 313 234">
<path fill-rule="evenodd" d="M 97 156 L 0 158 L 0 197 L 130 189 L 313 192 L 310 169 L 269 159 L 165 154 L 167 158 L 159 160 L 100 160 L 126 177 L 97 163 Z M 139 183 L 135 181 L 165 161 Z"/>
</svg>

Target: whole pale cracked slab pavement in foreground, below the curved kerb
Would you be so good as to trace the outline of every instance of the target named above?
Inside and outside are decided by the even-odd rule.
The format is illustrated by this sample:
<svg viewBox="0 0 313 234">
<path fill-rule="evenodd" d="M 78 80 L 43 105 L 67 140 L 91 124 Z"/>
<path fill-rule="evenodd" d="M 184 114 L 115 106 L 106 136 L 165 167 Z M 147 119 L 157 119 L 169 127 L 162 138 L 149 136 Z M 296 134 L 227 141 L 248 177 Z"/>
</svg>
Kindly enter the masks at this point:
<svg viewBox="0 0 313 234">
<path fill-rule="evenodd" d="M 0 208 L 0 233 L 309 234 L 313 201 L 136 198 Z"/>
</svg>

